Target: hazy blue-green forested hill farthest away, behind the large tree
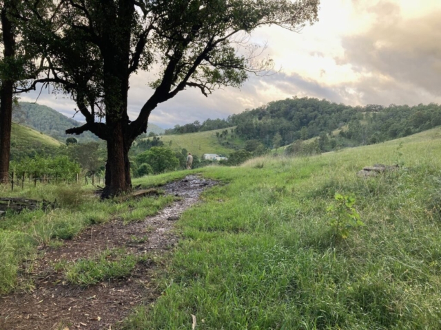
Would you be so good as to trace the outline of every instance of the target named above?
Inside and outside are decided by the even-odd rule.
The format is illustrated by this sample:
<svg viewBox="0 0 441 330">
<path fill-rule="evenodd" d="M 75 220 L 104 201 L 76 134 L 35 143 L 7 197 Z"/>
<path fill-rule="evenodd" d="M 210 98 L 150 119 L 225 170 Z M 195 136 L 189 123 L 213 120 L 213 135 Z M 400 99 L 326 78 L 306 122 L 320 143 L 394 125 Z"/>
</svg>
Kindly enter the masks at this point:
<svg viewBox="0 0 441 330">
<path fill-rule="evenodd" d="M 72 136 L 81 142 L 99 140 L 96 135 L 90 132 L 85 132 L 81 135 L 65 134 L 66 129 L 81 126 L 83 123 L 68 118 L 57 110 L 37 103 L 19 102 L 19 107 L 15 107 L 12 113 L 12 121 L 29 126 L 61 142 L 65 142 L 68 137 Z M 150 132 L 162 134 L 164 131 L 164 129 L 155 124 L 148 124 L 147 134 Z"/>
</svg>

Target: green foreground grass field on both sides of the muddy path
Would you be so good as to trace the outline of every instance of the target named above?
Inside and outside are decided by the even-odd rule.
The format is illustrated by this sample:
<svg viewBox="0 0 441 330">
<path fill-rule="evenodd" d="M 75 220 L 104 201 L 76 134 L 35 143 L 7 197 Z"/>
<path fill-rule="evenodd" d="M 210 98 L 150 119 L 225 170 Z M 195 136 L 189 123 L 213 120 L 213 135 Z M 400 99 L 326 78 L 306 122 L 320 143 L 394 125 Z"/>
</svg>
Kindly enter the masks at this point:
<svg viewBox="0 0 441 330">
<path fill-rule="evenodd" d="M 369 179 L 356 175 L 376 163 L 401 168 Z M 163 257 L 166 266 L 154 280 L 161 297 L 136 307 L 121 329 L 192 329 L 192 315 L 196 329 L 441 329 L 441 128 L 318 156 L 260 157 L 136 184 L 155 186 L 187 173 L 222 184 L 182 215 L 177 230 L 183 237 Z M 69 239 L 116 215 L 136 220 L 127 203 L 99 202 L 90 190 L 72 188 L 15 192 L 57 197 L 62 207 L 0 221 L 3 292 L 32 285 L 17 282 L 17 271 L 41 242 Z M 336 192 L 356 200 L 365 223 L 349 228 L 347 239 L 329 225 L 327 209 L 336 205 Z M 151 214 L 170 202 L 146 199 L 135 209 Z M 112 272 L 130 272 L 133 261 L 125 258 L 126 267 Z M 107 267 L 105 259 L 96 262 Z M 70 272 L 72 282 L 84 281 Z"/>
</svg>

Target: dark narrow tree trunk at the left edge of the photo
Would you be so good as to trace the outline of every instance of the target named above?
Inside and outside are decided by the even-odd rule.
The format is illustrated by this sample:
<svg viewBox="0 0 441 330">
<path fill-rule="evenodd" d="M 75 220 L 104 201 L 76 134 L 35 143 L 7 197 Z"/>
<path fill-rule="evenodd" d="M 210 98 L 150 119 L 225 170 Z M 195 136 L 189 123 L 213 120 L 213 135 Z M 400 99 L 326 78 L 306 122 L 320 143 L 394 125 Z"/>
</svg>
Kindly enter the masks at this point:
<svg viewBox="0 0 441 330">
<path fill-rule="evenodd" d="M 8 9 L 10 6 L 5 3 L 1 10 L 1 28 L 3 30 L 4 58 L 6 63 L 12 63 L 15 56 L 15 40 L 12 23 L 7 16 Z M 9 59 L 11 61 L 8 61 Z M 10 72 L 8 73 L 10 74 Z M 0 90 L 0 183 L 3 184 L 7 184 L 9 181 L 13 91 L 14 80 L 3 80 Z"/>
</svg>

